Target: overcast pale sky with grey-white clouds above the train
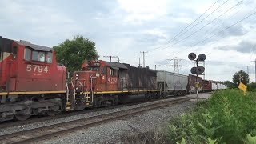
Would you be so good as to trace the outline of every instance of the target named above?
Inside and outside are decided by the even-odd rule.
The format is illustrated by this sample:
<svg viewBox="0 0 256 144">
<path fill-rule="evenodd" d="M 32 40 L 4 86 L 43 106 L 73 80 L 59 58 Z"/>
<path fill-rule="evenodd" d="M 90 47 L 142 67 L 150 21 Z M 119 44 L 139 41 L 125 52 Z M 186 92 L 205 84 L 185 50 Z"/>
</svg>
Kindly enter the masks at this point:
<svg viewBox="0 0 256 144">
<path fill-rule="evenodd" d="M 138 66 L 140 51 L 148 51 L 146 66 L 152 69 L 161 65 L 157 70 L 173 71 L 168 65 L 174 61 L 167 59 L 184 59 L 180 64 L 186 67 L 180 68 L 180 74 L 189 74 L 194 66 L 187 58 L 190 52 L 203 53 L 207 79 L 231 81 L 235 72 L 247 72 L 249 66 L 254 82 L 250 60 L 256 58 L 256 1 L 215 2 L 0 0 L 0 35 L 50 47 L 82 35 L 96 42 L 102 60 L 109 60 L 104 55 L 114 55 Z"/>
</svg>

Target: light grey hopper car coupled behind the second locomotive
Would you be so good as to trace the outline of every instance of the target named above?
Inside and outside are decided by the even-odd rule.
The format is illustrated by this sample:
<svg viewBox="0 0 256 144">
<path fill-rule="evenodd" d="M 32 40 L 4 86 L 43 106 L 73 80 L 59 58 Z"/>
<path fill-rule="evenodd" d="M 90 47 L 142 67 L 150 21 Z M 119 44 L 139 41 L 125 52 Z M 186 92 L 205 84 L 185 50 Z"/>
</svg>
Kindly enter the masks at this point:
<svg viewBox="0 0 256 144">
<path fill-rule="evenodd" d="M 157 71 L 158 88 L 164 95 L 186 95 L 188 78 L 186 75 L 175 74 L 168 71 Z"/>
</svg>

